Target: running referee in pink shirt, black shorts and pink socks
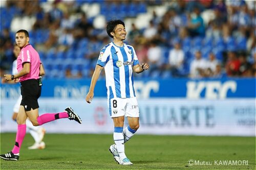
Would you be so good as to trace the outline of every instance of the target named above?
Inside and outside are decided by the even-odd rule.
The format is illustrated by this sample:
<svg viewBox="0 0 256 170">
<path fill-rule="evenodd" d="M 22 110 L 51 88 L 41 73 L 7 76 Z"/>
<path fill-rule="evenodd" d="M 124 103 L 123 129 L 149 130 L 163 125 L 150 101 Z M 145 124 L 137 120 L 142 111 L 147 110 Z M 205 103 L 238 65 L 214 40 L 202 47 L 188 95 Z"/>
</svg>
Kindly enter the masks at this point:
<svg viewBox="0 0 256 170">
<path fill-rule="evenodd" d="M 39 75 L 44 75 L 44 67 L 36 50 L 29 44 L 29 33 L 26 30 L 16 32 L 16 44 L 20 47 L 17 58 L 17 70 L 15 75 L 4 75 L 5 81 L 14 80 L 20 82 L 22 102 L 17 115 L 17 133 L 14 147 L 11 152 L 0 155 L 5 160 L 19 159 L 19 150 L 26 135 L 26 119 L 29 117 L 34 126 L 39 126 L 59 118 L 69 118 L 81 124 L 80 117 L 70 108 L 60 113 L 46 113 L 38 115 L 38 98 L 41 95 L 41 83 Z"/>
</svg>

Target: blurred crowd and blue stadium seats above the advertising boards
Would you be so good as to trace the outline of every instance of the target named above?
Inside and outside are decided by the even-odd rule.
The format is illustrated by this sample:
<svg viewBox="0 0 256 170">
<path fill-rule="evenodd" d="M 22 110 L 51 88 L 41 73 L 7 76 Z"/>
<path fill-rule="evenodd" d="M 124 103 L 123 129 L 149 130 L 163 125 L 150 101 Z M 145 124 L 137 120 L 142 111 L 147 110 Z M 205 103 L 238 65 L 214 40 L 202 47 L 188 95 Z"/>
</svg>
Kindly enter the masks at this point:
<svg viewBox="0 0 256 170">
<path fill-rule="evenodd" d="M 15 32 L 30 43 L 47 78 L 90 78 L 101 48 L 112 41 L 105 21 L 89 17 L 87 4 L 110 19 L 152 17 L 143 28 L 131 23 L 126 43 L 135 47 L 147 78 L 256 76 L 255 1 L 6 1 L 1 5 L 1 74 L 10 72 Z M 159 15 L 152 7 L 167 7 Z M 154 9 L 154 8 L 153 8 Z M 104 27 L 98 27 L 102 25 Z M 98 23 L 97 23 L 98 22 Z M 103 75 L 102 75 L 103 76 Z"/>
</svg>

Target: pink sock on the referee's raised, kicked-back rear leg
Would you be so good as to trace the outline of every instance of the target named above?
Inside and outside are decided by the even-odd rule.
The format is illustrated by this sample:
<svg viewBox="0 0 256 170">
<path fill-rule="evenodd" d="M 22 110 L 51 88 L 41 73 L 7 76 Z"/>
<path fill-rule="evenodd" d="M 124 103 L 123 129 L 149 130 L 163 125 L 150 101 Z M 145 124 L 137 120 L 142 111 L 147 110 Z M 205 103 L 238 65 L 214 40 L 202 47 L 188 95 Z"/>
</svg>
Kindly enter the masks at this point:
<svg viewBox="0 0 256 170">
<path fill-rule="evenodd" d="M 53 120 L 59 119 L 59 118 L 68 118 L 69 115 L 67 112 L 61 112 L 61 113 L 46 113 L 42 114 L 37 117 L 37 122 L 39 125 L 52 122 Z"/>
</svg>

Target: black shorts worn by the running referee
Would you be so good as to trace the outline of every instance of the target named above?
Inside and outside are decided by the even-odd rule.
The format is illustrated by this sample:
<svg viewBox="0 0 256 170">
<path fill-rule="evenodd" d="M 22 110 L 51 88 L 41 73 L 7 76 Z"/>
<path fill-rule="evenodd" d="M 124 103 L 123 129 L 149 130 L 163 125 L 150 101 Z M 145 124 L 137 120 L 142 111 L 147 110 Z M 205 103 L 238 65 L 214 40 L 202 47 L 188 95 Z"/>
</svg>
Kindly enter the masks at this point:
<svg viewBox="0 0 256 170">
<path fill-rule="evenodd" d="M 30 79 L 20 82 L 20 91 L 22 93 L 21 106 L 24 106 L 26 111 L 39 108 L 37 99 L 41 95 L 41 86 L 39 79 Z"/>
</svg>

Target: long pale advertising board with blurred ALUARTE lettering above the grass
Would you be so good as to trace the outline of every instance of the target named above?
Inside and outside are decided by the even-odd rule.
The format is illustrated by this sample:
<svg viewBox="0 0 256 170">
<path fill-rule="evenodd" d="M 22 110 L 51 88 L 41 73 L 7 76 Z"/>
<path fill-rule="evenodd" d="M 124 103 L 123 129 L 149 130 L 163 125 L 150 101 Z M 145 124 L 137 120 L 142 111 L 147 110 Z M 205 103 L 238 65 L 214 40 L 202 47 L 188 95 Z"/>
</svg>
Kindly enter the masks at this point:
<svg viewBox="0 0 256 170">
<path fill-rule="evenodd" d="M 1 101 L 1 132 L 16 131 L 16 122 L 11 119 L 15 102 Z M 140 134 L 255 136 L 255 99 L 151 98 L 138 102 Z M 92 104 L 87 104 L 80 99 L 42 98 L 39 105 L 39 114 L 58 113 L 70 106 L 82 119 L 81 125 L 69 119 L 45 124 L 48 133 L 113 132 L 106 99 L 94 99 Z"/>
</svg>

